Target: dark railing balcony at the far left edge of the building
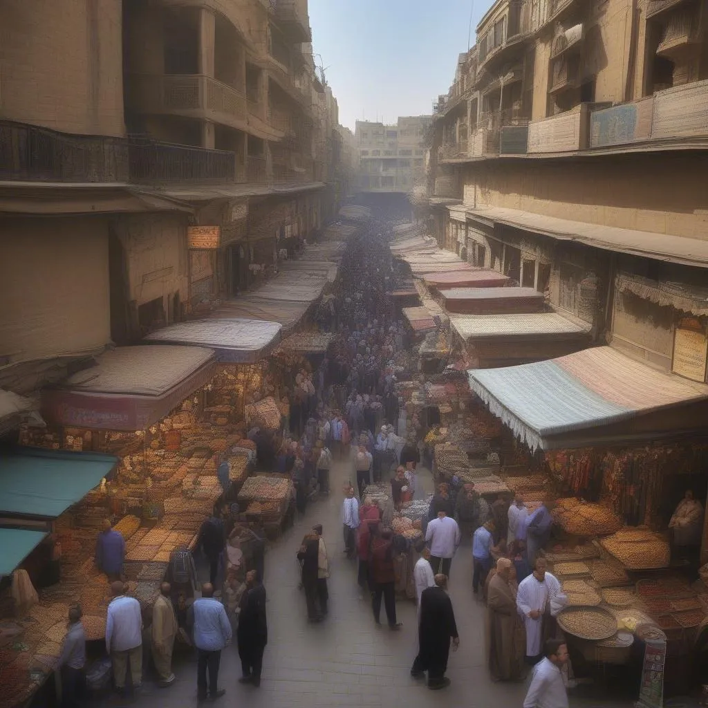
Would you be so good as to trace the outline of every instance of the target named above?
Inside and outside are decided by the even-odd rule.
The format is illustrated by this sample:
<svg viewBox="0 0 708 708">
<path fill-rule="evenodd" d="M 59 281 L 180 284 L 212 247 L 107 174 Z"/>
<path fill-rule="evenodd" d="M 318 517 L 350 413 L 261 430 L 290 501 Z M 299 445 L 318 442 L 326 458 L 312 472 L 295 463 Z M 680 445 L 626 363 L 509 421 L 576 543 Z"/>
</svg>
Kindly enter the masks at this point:
<svg viewBox="0 0 708 708">
<path fill-rule="evenodd" d="M 71 135 L 0 120 L 0 179 L 127 182 L 127 142 L 116 137 Z"/>
</svg>

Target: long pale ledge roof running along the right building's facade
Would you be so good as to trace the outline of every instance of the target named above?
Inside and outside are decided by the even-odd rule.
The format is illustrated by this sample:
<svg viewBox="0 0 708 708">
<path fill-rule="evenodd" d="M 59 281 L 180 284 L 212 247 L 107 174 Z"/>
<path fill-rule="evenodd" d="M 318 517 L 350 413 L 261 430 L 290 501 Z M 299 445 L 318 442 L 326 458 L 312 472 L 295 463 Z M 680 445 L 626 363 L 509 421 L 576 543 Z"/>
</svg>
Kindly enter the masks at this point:
<svg viewBox="0 0 708 708">
<path fill-rule="evenodd" d="M 554 239 L 581 241 L 583 244 L 606 251 L 632 253 L 636 256 L 656 258 L 659 261 L 708 268 L 708 241 L 702 239 L 689 239 L 686 236 L 656 234 L 636 229 L 619 229 L 503 207 L 469 209 L 467 216 L 484 222 L 507 224 L 517 229 L 551 236 Z"/>
</svg>

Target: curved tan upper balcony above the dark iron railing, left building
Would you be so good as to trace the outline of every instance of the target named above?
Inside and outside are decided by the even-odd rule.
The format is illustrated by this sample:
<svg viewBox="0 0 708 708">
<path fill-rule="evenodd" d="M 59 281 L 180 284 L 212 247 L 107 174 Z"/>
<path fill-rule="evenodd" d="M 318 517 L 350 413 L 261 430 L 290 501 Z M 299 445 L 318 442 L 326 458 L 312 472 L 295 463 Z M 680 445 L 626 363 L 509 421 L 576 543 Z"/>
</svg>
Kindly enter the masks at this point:
<svg viewBox="0 0 708 708">
<path fill-rule="evenodd" d="M 140 113 L 183 115 L 246 129 L 246 96 L 211 76 L 134 76 L 130 89 L 130 103 Z"/>
</svg>

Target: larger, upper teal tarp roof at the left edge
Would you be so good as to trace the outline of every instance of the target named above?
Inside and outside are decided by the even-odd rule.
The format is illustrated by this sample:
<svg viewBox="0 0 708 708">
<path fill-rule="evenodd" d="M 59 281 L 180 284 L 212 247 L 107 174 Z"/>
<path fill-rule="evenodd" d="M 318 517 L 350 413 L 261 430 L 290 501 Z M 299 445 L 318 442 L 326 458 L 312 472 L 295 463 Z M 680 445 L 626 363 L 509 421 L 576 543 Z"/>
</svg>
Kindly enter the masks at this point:
<svg viewBox="0 0 708 708">
<path fill-rule="evenodd" d="M 117 462 L 94 452 L 15 447 L 0 455 L 0 512 L 57 518 Z"/>
</svg>

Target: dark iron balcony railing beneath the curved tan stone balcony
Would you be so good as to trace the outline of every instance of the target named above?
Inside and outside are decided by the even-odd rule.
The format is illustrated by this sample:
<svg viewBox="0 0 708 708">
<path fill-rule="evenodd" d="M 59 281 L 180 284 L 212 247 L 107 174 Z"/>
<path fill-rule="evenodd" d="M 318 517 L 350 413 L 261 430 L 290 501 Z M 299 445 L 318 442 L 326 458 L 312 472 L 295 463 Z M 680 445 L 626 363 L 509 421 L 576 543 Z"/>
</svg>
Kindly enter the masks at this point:
<svg viewBox="0 0 708 708">
<path fill-rule="evenodd" d="M 130 181 L 136 184 L 236 181 L 236 155 L 226 150 L 132 141 L 129 155 Z"/>
</svg>

